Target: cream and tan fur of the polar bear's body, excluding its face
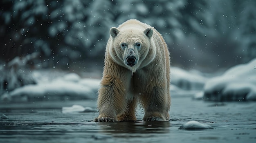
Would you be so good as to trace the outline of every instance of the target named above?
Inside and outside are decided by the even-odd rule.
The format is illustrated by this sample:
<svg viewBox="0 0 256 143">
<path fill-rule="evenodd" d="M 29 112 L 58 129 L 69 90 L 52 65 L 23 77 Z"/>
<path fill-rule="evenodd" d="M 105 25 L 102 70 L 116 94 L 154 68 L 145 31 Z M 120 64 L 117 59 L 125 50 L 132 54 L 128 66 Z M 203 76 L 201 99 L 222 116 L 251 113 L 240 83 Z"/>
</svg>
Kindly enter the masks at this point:
<svg viewBox="0 0 256 143">
<path fill-rule="evenodd" d="M 134 25 L 139 28 L 151 27 L 137 20 L 128 20 L 118 29 L 122 31 L 126 26 Z M 120 55 L 112 48 L 117 45 L 111 38 L 106 48 L 97 102 L 99 117 L 94 121 L 135 121 L 138 103 L 145 112 L 142 120 L 168 120 L 171 106 L 170 57 L 162 35 L 154 29 L 148 53 L 143 60 L 139 59 L 139 66 L 134 69 L 127 68 L 118 58 Z"/>
</svg>

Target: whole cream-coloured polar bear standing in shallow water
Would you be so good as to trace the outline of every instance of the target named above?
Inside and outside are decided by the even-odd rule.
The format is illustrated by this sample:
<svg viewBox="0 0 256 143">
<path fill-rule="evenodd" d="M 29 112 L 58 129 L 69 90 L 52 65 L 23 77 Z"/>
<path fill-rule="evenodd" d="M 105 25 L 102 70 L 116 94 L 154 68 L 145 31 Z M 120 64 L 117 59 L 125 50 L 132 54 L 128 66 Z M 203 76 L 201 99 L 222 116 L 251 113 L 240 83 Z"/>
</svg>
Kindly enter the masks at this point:
<svg viewBox="0 0 256 143">
<path fill-rule="evenodd" d="M 140 103 L 143 121 L 169 119 L 170 57 L 162 35 L 138 20 L 110 29 L 94 121 L 135 121 Z"/>
</svg>

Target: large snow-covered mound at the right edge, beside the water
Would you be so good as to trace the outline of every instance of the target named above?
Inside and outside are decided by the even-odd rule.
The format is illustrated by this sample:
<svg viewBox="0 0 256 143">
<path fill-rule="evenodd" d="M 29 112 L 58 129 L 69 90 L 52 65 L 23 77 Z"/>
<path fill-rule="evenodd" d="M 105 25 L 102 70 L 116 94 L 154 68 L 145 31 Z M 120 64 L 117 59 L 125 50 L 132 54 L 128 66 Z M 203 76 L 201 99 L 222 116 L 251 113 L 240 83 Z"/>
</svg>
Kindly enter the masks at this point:
<svg viewBox="0 0 256 143">
<path fill-rule="evenodd" d="M 213 77 L 204 87 L 204 100 L 247 101 L 256 100 L 256 59 Z"/>
</svg>

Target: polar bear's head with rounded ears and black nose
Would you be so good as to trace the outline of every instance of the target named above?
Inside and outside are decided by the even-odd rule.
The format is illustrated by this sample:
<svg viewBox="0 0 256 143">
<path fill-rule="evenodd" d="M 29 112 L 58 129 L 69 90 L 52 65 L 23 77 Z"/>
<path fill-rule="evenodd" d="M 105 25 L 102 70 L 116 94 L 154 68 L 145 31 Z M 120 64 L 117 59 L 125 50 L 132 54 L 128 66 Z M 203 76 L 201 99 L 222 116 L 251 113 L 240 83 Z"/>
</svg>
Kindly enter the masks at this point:
<svg viewBox="0 0 256 143">
<path fill-rule="evenodd" d="M 119 30 L 112 27 L 110 29 L 111 57 L 121 66 L 135 72 L 148 55 L 153 32 L 154 30 L 150 27 L 143 30 L 135 28 Z"/>
</svg>

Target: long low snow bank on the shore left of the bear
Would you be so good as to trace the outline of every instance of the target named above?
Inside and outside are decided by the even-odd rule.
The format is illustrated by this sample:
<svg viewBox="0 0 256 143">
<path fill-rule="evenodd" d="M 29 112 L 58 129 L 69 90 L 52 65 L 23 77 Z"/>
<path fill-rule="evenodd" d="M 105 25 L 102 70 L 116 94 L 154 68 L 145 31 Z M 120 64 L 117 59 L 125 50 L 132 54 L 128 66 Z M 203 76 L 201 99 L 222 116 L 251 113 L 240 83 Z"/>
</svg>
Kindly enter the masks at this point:
<svg viewBox="0 0 256 143">
<path fill-rule="evenodd" d="M 0 97 L 1 101 L 81 100 L 97 98 L 100 79 L 81 79 L 70 73 L 49 82 L 22 86 Z"/>
</svg>

